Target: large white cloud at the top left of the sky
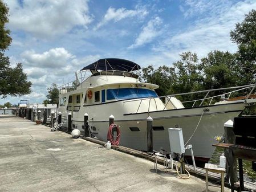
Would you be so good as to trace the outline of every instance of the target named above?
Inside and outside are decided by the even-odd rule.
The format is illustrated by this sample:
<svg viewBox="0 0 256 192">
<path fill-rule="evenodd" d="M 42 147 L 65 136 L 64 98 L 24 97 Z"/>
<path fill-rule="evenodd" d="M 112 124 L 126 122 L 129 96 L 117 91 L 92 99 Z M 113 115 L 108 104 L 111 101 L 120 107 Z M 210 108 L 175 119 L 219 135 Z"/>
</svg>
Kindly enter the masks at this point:
<svg viewBox="0 0 256 192">
<path fill-rule="evenodd" d="M 75 26 L 86 28 L 92 21 L 88 0 L 34 1 L 8 0 L 11 30 L 23 30 L 35 36 L 65 34 Z"/>
</svg>

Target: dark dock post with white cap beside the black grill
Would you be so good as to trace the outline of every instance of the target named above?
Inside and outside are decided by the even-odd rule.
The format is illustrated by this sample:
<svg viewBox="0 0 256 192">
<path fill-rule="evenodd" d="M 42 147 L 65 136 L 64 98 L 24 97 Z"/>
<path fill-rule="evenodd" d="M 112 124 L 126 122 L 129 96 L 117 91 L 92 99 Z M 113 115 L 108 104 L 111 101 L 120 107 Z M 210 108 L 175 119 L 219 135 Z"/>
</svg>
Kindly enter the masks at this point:
<svg viewBox="0 0 256 192">
<path fill-rule="evenodd" d="M 234 122 L 229 120 L 225 122 L 224 124 L 224 136 L 225 136 L 225 143 L 227 144 L 235 144 L 235 134 L 233 132 L 233 124 Z M 225 156 L 226 156 L 226 173 L 227 173 L 227 179 L 229 180 L 230 177 L 230 171 L 233 171 L 233 173 L 237 173 L 237 162 L 234 161 L 233 165 L 230 165 L 231 162 L 231 156 L 233 154 L 230 154 L 229 149 L 225 149 Z M 234 182 L 238 182 L 237 174 L 234 174 Z"/>
</svg>

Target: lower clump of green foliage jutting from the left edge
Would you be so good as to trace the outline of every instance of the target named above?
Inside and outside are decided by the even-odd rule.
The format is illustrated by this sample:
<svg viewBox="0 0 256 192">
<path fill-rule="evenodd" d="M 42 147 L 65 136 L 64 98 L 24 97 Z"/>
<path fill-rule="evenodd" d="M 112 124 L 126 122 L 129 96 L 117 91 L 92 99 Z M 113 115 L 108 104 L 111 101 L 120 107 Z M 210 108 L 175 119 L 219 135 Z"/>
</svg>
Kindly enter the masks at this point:
<svg viewBox="0 0 256 192">
<path fill-rule="evenodd" d="M 27 81 L 27 75 L 22 70 L 22 64 L 10 67 L 7 56 L 0 52 L 0 95 L 5 98 L 10 96 L 22 96 L 31 92 L 31 82 Z"/>
</svg>

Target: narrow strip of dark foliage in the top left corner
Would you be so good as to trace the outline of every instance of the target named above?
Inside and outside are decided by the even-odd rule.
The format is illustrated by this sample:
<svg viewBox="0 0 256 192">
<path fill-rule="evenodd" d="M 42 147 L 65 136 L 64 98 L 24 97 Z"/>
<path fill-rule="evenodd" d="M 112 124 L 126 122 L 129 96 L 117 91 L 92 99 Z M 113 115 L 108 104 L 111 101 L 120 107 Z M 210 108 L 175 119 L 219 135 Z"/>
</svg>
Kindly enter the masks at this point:
<svg viewBox="0 0 256 192">
<path fill-rule="evenodd" d="M 5 24 L 9 22 L 6 3 L 0 0 L 0 51 L 5 51 L 11 44 L 10 30 L 5 28 Z"/>
</svg>

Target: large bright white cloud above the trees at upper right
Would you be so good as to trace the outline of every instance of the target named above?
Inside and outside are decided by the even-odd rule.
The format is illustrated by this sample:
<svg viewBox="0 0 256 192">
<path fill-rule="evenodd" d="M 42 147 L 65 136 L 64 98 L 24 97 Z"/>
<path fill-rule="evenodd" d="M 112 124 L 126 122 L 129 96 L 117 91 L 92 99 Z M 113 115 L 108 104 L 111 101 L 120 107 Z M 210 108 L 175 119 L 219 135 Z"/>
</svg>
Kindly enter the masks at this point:
<svg viewBox="0 0 256 192">
<path fill-rule="evenodd" d="M 194 1 L 186 2 L 193 4 Z M 159 46 L 155 46 L 153 51 L 161 53 L 172 62 L 180 59 L 178 54 L 189 50 L 196 52 L 200 57 L 206 56 L 212 50 L 237 51 L 237 45 L 230 40 L 230 30 L 234 30 L 235 23 L 241 22 L 244 15 L 249 13 L 252 7 L 256 7 L 256 2 L 238 2 L 234 5 L 227 2 L 222 3 L 221 7 L 215 1 L 215 4 L 209 1 L 207 5 L 200 2 L 195 2 L 196 4 L 187 10 L 188 13 L 184 13 L 185 17 L 192 17 L 198 10 L 201 15 L 198 14 L 197 17 L 201 19 L 197 19 L 194 25 L 191 24 L 183 32 L 166 34 L 167 37 Z M 205 11 L 209 13 L 205 15 Z"/>
</svg>

